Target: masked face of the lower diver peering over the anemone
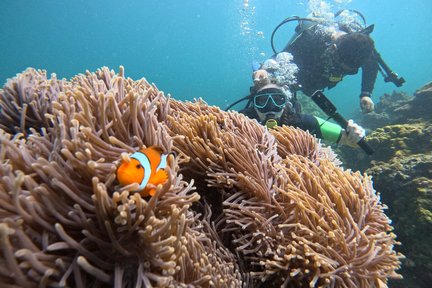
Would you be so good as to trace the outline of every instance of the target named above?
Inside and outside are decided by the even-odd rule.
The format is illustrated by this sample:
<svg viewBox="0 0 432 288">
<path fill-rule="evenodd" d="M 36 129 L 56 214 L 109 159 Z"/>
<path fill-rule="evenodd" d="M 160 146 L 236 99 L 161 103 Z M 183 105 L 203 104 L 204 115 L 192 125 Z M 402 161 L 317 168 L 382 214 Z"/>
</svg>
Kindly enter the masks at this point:
<svg viewBox="0 0 432 288">
<path fill-rule="evenodd" d="M 283 92 L 259 92 L 254 96 L 254 108 L 260 121 L 268 119 L 279 119 L 287 103 L 287 98 Z"/>
</svg>

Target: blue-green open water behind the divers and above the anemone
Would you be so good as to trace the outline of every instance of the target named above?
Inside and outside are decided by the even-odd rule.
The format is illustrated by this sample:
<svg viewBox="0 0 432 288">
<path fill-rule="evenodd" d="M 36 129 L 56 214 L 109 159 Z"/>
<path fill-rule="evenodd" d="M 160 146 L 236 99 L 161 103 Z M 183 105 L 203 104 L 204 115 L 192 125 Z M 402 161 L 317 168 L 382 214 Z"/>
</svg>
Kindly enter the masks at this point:
<svg viewBox="0 0 432 288">
<path fill-rule="evenodd" d="M 378 76 L 376 102 L 383 93 L 413 93 L 432 80 L 431 1 L 328 2 L 335 11 L 359 10 L 375 24 L 377 49 L 407 81 L 396 88 Z M 124 65 L 126 76 L 144 77 L 176 99 L 202 97 L 226 107 L 248 93 L 252 61 L 263 60 L 260 53 L 272 54 L 273 28 L 286 17 L 306 16 L 306 4 L 249 0 L 245 8 L 244 0 L 2 0 L 0 83 L 30 66 L 70 78 L 87 69 Z M 276 47 L 284 46 L 293 28 L 280 30 Z M 353 76 L 328 95 L 349 114 L 358 110 L 359 91 L 360 79 Z"/>
</svg>

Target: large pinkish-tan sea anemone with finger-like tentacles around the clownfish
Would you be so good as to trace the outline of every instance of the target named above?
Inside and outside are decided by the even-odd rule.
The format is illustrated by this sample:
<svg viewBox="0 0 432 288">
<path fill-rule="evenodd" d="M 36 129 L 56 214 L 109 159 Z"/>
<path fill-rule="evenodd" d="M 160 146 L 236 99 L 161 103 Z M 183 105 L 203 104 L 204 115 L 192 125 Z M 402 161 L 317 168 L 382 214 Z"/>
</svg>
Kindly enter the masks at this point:
<svg viewBox="0 0 432 288">
<path fill-rule="evenodd" d="M 27 69 L 0 93 L 0 283 L 385 287 L 402 256 L 369 176 L 290 127 L 166 97 L 108 68 Z M 120 187 L 157 145 L 169 181 Z"/>
</svg>

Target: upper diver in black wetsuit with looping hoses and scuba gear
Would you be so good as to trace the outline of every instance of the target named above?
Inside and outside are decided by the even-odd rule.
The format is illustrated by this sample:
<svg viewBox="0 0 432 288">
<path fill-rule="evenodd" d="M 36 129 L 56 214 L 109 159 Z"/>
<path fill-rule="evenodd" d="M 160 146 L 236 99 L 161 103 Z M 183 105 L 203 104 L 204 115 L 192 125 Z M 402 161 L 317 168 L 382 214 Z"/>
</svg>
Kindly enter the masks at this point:
<svg viewBox="0 0 432 288">
<path fill-rule="evenodd" d="M 345 10 L 335 14 L 339 16 Z M 342 81 L 345 75 L 357 74 L 362 69 L 362 83 L 360 92 L 360 108 L 363 113 L 374 110 L 371 99 L 375 80 L 380 71 L 386 82 L 393 82 L 400 87 L 405 80 L 390 70 L 376 51 L 374 41 L 369 34 L 373 31 L 373 25 L 366 27 L 366 21 L 361 13 L 353 11 L 363 19 L 363 24 L 358 22 L 343 23 L 324 21 L 321 18 L 290 17 L 282 21 L 273 31 L 271 44 L 275 55 L 262 63 L 259 69 L 253 73 L 254 87 L 273 82 L 285 86 L 280 81 L 275 81 L 280 74 L 274 69 L 277 53 L 273 45 L 273 37 L 277 29 L 291 21 L 297 21 L 296 33 L 283 49 L 282 53 L 290 53 L 292 62 L 297 65 L 296 91 L 302 91 L 311 96 L 317 90 L 331 89 Z M 346 11 L 345 11 L 346 12 Z M 384 74 L 386 73 L 386 74 Z"/>
</svg>

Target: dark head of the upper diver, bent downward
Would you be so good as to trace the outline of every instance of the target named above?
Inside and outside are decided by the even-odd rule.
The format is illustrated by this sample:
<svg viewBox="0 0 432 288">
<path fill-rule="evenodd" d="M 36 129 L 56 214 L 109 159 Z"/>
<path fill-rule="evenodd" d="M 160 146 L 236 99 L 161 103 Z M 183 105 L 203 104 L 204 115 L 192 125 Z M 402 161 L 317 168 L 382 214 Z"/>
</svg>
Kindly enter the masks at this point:
<svg viewBox="0 0 432 288">
<path fill-rule="evenodd" d="M 372 56 L 374 41 L 364 33 L 348 33 L 337 40 L 336 47 L 342 68 L 357 70 Z"/>
</svg>

